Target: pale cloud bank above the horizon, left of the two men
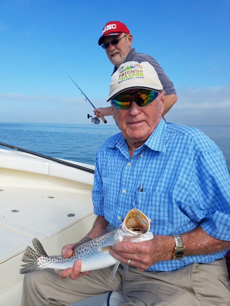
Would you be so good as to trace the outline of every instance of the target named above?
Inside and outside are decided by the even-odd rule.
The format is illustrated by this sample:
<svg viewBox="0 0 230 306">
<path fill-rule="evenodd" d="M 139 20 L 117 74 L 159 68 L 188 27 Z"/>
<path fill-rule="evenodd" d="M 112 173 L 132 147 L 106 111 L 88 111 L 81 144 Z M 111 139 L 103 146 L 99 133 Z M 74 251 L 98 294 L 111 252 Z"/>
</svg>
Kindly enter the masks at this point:
<svg viewBox="0 0 230 306">
<path fill-rule="evenodd" d="M 97 99 L 95 106 L 106 107 L 105 99 Z M 85 97 L 59 97 L 25 95 L 19 93 L 0 94 L 0 122 L 79 123 L 89 124 L 87 114 L 94 117 L 93 107 Z M 114 124 L 112 116 L 109 124 Z"/>
</svg>

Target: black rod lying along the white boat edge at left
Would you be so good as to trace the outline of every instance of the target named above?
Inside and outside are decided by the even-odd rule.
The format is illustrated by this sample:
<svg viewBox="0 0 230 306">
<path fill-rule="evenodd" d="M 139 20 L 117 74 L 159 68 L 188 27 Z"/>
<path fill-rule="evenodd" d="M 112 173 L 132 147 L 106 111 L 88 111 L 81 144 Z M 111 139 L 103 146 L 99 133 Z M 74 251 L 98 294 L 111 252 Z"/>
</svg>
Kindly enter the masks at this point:
<svg viewBox="0 0 230 306">
<path fill-rule="evenodd" d="M 38 156 L 38 157 L 42 157 L 42 158 L 45 158 L 45 159 L 49 159 L 49 160 L 52 160 L 53 162 L 58 162 L 59 164 L 62 164 L 62 165 L 65 165 L 65 166 L 70 166 L 72 168 L 76 168 L 76 169 L 94 174 L 93 169 L 86 168 L 86 167 L 83 167 L 83 166 L 80 166 L 80 165 L 76 165 L 76 164 L 73 164 L 71 162 L 66 162 L 66 161 L 61 160 L 61 159 L 57 159 L 57 158 L 50 157 L 50 156 L 47 156 L 47 155 L 39 154 L 39 153 L 29 151 L 29 150 L 25 150 L 25 149 L 22 149 L 22 148 L 14 147 L 14 146 L 11 146 L 10 144 L 4 144 L 3 142 L 0 142 L 0 145 L 3 146 L 3 147 L 8 147 L 8 148 L 17 150 L 17 151 L 29 153 L 31 155 L 35 155 L 35 156 Z"/>
</svg>

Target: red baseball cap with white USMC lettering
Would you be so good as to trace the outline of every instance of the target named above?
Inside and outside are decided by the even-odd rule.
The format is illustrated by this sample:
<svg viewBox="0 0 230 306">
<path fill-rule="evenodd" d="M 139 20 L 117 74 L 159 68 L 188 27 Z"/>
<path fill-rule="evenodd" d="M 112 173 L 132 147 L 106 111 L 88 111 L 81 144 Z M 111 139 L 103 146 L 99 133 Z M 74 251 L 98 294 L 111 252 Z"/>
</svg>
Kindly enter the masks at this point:
<svg viewBox="0 0 230 306">
<path fill-rule="evenodd" d="M 98 45 L 102 45 L 104 36 L 118 36 L 121 33 L 129 34 L 129 30 L 124 23 L 120 21 L 107 22 L 102 30 L 102 36 L 98 40 Z"/>
</svg>

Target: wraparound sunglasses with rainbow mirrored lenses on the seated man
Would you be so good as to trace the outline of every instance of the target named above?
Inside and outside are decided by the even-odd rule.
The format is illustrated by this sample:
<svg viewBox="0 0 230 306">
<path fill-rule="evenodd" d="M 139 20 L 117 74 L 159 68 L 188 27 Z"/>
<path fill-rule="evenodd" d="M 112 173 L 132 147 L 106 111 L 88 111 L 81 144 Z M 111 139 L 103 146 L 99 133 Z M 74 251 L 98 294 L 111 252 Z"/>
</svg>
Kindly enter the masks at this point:
<svg viewBox="0 0 230 306">
<path fill-rule="evenodd" d="M 143 89 L 133 94 L 119 94 L 111 100 L 111 103 L 121 110 L 128 110 L 131 107 L 132 101 L 135 101 L 138 106 L 145 106 L 155 100 L 160 92 Z"/>
</svg>

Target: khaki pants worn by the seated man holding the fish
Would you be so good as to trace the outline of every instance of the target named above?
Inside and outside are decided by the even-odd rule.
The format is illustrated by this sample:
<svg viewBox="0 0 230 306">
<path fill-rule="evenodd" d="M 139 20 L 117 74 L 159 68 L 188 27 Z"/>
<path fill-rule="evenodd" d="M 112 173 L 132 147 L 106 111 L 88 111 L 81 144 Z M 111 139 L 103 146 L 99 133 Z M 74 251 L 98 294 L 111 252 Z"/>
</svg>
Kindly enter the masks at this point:
<svg viewBox="0 0 230 306">
<path fill-rule="evenodd" d="M 123 291 L 122 306 L 230 305 L 225 259 L 208 264 L 193 263 L 171 272 L 140 272 L 129 267 L 126 273 L 119 266 L 113 281 L 109 282 L 112 269 L 91 271 L 74 281 L 60 279 L 52 269 L 25 274 L 21 305 L 68 305 L 110 290 Z"/>
</svg>

